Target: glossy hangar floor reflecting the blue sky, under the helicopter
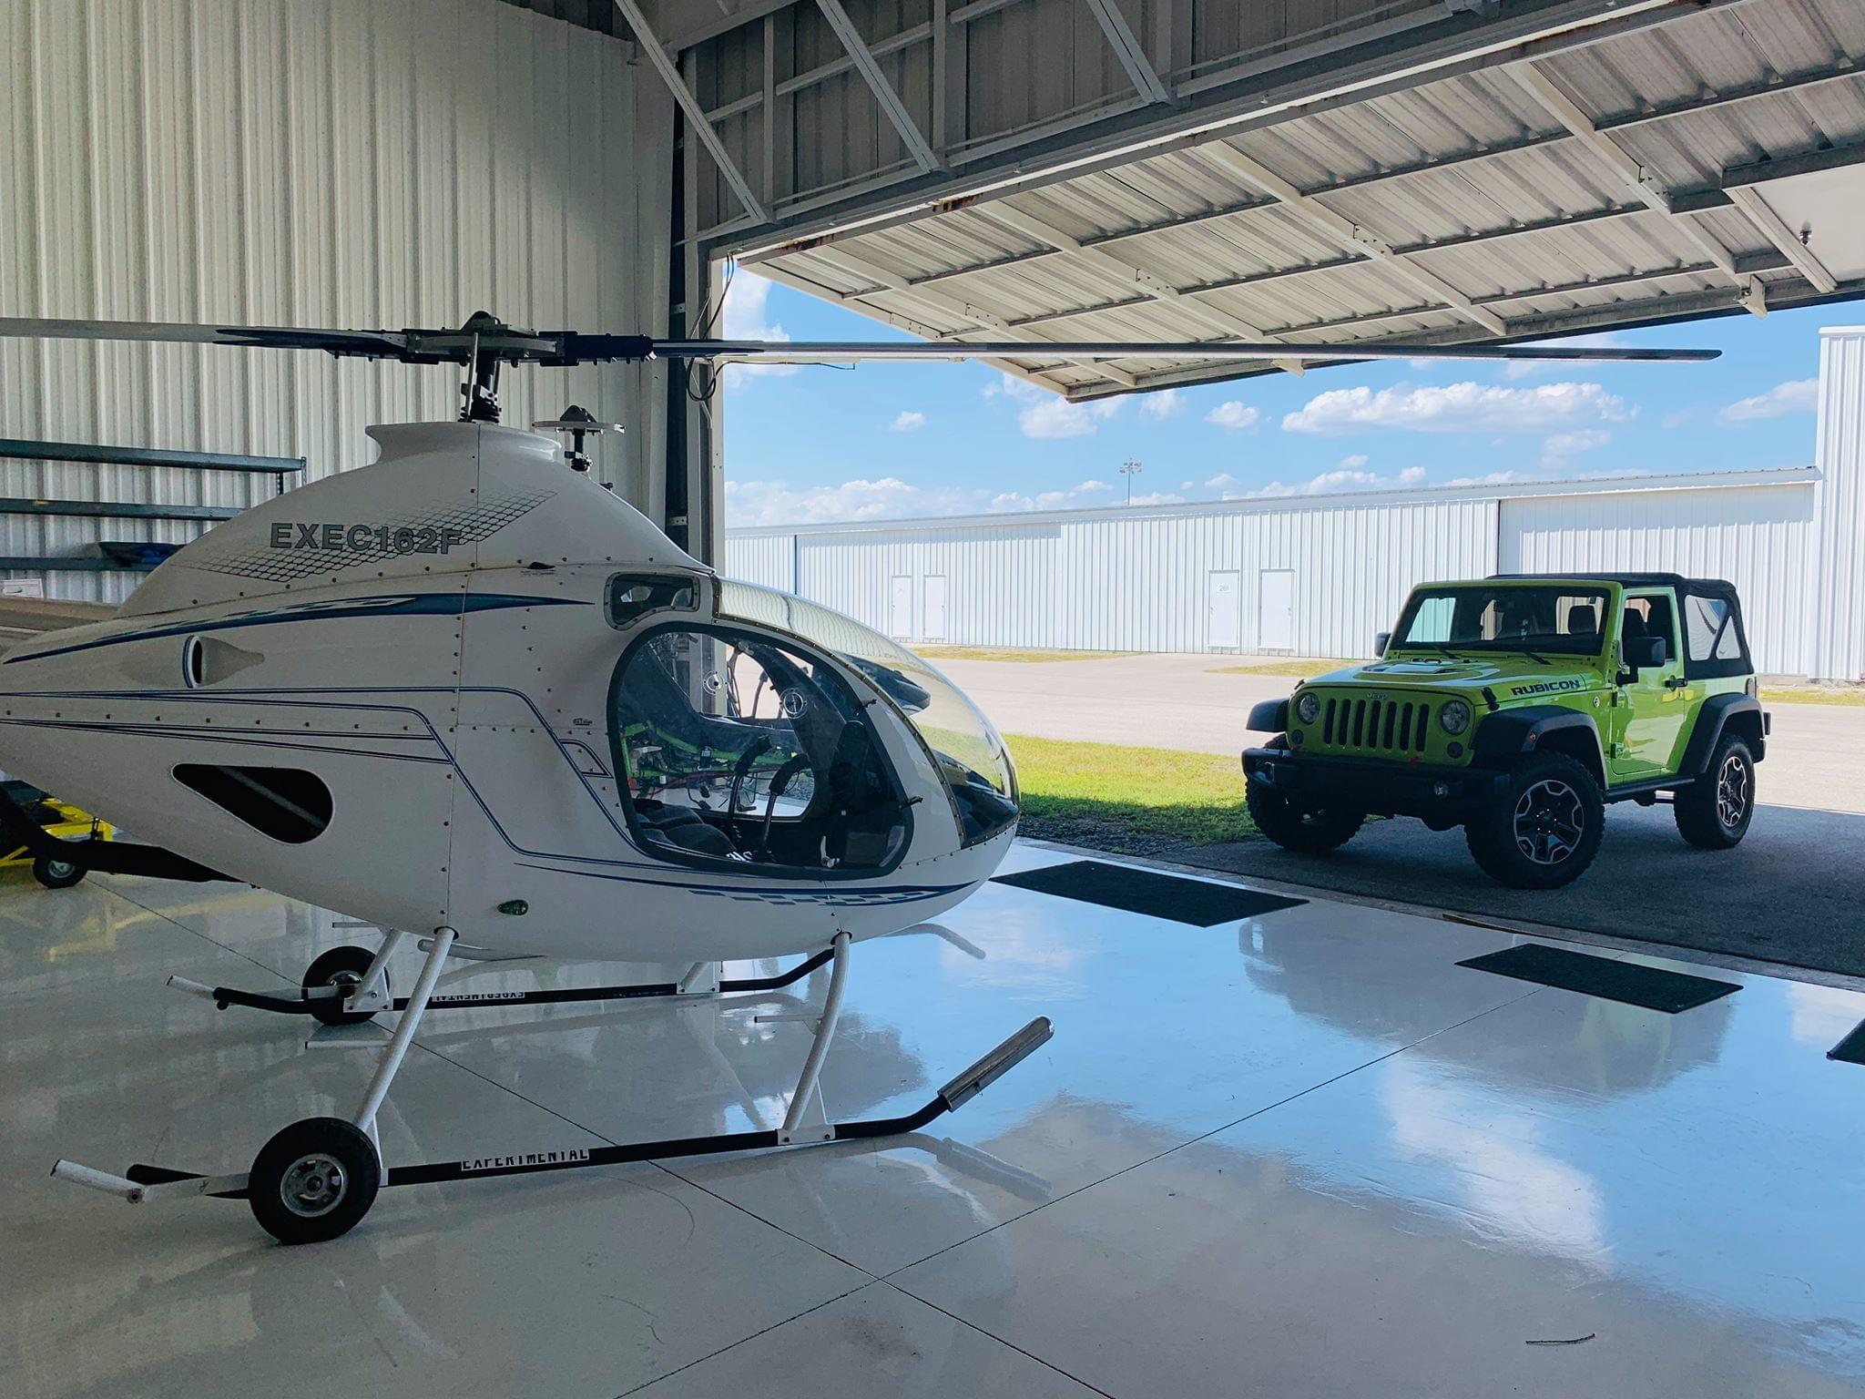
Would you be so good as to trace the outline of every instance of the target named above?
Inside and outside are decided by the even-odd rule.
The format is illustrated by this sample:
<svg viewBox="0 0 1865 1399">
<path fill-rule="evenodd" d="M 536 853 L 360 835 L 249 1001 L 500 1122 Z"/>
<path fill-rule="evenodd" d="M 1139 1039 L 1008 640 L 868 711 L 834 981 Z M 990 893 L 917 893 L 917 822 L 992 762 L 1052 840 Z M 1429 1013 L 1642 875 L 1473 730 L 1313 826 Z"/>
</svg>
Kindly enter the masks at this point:
<svg viewBox="0 0 1865 1399">
<path fill-rule="evenodd" d="M 921 1136 L 395 1188 L 287 1250 L 241 1203 L 47 1170 L 244 1170 L 347 1112 L 371 1056 L 162 979 L 265 989 L 352 935 L 250 890 L 7 882 L 0 1393 L 1865 1392 L 1865 1067 L 1824 1058 L 1865 994 L 1708 970 L 1742 990 L 1662 1015 L 1319 899 L 1197 929 L 988 886 L 946 925 L 974 949 L 854 949 L 830 1110 L 918 1106 L 1037 1013 L 1056 1037 Z M 822 981 L 794 990 L 436 1011 L 388 1160 L 774 1123 L 808 1032 L 753 1015 Z"/>
</svg>

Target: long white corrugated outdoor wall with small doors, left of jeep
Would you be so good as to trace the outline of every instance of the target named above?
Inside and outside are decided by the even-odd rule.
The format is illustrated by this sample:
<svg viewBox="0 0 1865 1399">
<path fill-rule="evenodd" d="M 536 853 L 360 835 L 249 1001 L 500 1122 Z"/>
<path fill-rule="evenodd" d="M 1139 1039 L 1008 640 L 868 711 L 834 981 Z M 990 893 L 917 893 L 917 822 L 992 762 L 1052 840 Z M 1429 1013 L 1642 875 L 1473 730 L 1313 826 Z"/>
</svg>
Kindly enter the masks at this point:
<svg viewBox="0 0 1865 1399">
<path fill-rule="evenodd" d="M 927 640 L 929 576 L 946 578 L 946 627 L 960 645 L 1084 651 L 1257 651 L 1263 573 L 1294 575 L 1291 645 L 1365 655 L 1419 578 L 1496 567 L 1496 502 L 1225 507 L 1209 511 L 1005 519 L 968 526 L 890 526 L 725 539 L 725 571 L 796 591 L 867 625 Z M 1214 634 L 1212 575 L 1236 575 L 1235 632 Z M 891 614 L 908 578 L 908 625 Z"/>
</svg>

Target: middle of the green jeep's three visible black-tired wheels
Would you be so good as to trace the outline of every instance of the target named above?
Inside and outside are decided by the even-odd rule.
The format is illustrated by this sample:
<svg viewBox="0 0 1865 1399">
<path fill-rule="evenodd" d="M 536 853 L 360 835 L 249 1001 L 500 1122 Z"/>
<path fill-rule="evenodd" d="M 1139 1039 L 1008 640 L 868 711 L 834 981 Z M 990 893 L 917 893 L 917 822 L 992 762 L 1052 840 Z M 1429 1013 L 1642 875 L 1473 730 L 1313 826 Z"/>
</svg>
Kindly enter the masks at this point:
<svg viewBox="0 0 1865 1399">
<path fill-rule="evenodd" d="M 1522 759 L 1464 843 L 1485 875 L 1516 890 L 1557 890 L 1593 864 L 1606 832 L 1600 783 L 1565 754 Z"/>
</svg>

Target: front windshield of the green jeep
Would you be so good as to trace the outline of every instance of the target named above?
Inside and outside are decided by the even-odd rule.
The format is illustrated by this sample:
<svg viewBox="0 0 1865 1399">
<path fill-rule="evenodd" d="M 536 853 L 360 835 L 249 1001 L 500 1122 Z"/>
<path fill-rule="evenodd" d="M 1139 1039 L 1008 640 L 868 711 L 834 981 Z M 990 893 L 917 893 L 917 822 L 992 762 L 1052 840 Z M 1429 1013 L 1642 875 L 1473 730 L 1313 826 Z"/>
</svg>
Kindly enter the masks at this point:
<svg viewBox="0 0 1865 1399">
<path fill-rule="evenodd" d="M 1604 645 L 1606 588 L 1582 584 L 1445 584 L 1419 588 L 1404 604 L 1393 651 L 1473 655 L 1516 651 L 1595 657 Z"/>
</svg>

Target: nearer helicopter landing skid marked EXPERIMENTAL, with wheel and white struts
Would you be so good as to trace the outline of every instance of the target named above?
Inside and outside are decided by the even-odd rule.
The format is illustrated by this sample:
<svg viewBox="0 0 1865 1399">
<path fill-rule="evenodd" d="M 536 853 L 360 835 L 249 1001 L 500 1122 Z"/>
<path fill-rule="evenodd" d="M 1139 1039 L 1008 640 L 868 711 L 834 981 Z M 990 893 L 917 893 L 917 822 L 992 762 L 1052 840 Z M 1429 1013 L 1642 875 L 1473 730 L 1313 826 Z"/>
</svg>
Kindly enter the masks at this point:
<svg viewBox="0 0 1865 1399">
<path fill-rule="evenodd" d="M 849 935 L 837 935 L 834 946 L 804 966 L 787 974 L 796 979 L 824 961 L 832 963 L 828 994 L 822 1000 L 821 1018 L 815 1018 L 815 1033 L 796 1091 L 781 1127 L 757 1132 L 714 1132 L 711 1136 L 668 1138 L 662 1142 L 630 1142 L 625 1145 L 601 1147 L 560 1147 L 546 1151 L 524 1151 L 492 1157 L 468 1157 L 464 1160 L 423 1162 L 414 1166 L 382 1166 L 380 1143 L 375 1132 L 375 1115 L 388 1097 L 388 1086 L 401 1067 L 414 1041 L 414 1030 L 429 1005 L 440 1004 L 433 996 L 435 981 L 453 942 L 451 929 L 436 929 L 435 944 L 421 966 L 421 976 L 414 985 L 414 994 L 407 998 L 407 1009 L 395 1024 L 395 1033 L 377 1063 L 362 1104 L 345 1117 L 304 1117 L 276 1132 L 254 1158 L 252 1170 L 239 1175 L 200 1175 L 177 1171 L 166 1166 L 136 1162 L 123 1175 L 112 1175 L 73 1160 L 60 1160 L 52 1166 L 52 1175 L 91 1190 L 127 1199 L 140 1205 L 155 1199 L 181 1199 L 209 1196 L 214 1199 L 244 1199 L 252 1207 L 259 1224 L 280 1242 L 302 1244 L 336 1239 L 349 1233 L 375 1196 L 384 1186 L 397 1184 L 448 1184 L 453 1181 L 472 1181 L 492 1175 L 537 1175 L 543 1171 L 571 1171 L 591 1166 L 621 1166 L 627 1162 L 664 1160 L 673 1157 L 703 1157 L 733 1151 L 768 1151 L 787 1145 L 824 1145 L 828 1142 L 862 1142 L 884 1136 L 918 1132 L 927 1123 L 964 1106 L 985 1087 L 1022 1063 L 1031 1052 L 1052 1035 L 1048 1017 L 1039 1015 L 1015 1035 L 1005 1039 L 977 1063 L 970 1065 L 957 1078 L 947 1082 L 916 1112 L 901 1117 L 869 1117 L 852 1123 L 832 1123 L 822 1114 L 822 1095 L 819 1087 L 822 1060 L 828 1056 L 830 1041 L 841 1018 L 841 1000 L 849 976 Z M 720 983 L 724 990 L 729 983 Z M 787 983 L 785 983 L 787 985 Z M 213 994 L 213 989 L 205 989 Z M 653 992 L 666 994 L 666 992 Z M 582 996 L 593 1000 L 593 996 Z M 459 1004 L 459 1002 L 451 1002 Z M 509 1000 L 487 1004 L 509 1005 Z M 270 1009 L 270 1007 L 265 1007 Z M 774 1017 L 778 1018 L 778 1017 Z M 791 1017 L 781 1017 L 791 1018 Z"/>
</svg>

